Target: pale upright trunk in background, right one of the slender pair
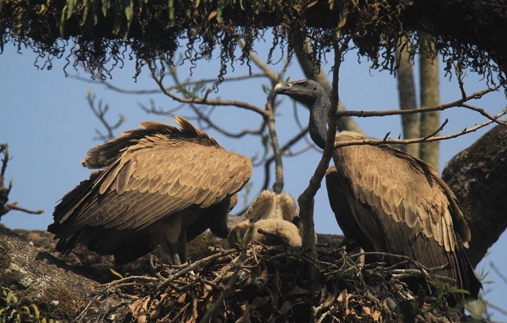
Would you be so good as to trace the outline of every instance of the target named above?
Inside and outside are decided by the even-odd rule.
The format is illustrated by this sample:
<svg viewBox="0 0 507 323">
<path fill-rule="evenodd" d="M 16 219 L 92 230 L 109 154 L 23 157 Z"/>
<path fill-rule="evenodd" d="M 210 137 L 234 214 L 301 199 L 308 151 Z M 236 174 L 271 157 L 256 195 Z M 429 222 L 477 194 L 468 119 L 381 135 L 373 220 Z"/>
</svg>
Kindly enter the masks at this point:
<svg viewBox="0 0 507 323">
<path fill-rule="evenodd" d="M 421 86 L 421 107 L 440 104 L 439 63 L 434 51 L 434 42 L 430 35 L 421 33 L 421 54 L 419 72 Z M 433 134 L 440 127 L 440 111 L 421 114 L 421 137 Z M 435 134 L 435 135 L 438 135 Z M 439 170 L 439 142 L 421 143 L 419 157 Z"/>
</svg>

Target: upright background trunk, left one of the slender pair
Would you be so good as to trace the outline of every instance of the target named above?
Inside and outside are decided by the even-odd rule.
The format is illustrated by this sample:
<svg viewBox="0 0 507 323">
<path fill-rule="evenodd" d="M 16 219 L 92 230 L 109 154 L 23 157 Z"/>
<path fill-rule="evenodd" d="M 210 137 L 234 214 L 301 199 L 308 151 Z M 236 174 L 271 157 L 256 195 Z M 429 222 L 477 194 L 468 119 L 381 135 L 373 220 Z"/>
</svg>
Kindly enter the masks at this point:
<svg viewBox="0 0 507 323">
<path fill-rule="evenodd" d="M 402 40 L 402 44 L 408 41 L 406 38 Z M 417 99 L 415 94 L 414 84 L 414 63 L 409 60 L 409 53 L 407 48 L 396 48 L 396 60 L 398 63 L 397 70 L 397 84 L 398 95 L 400 98 L 400 109 L 415 109 L 417 108 Z M 419 114 L 404 114 L 402 115 L 403 138 L 413 139 L 419 138 Z M 420 144 L 403 145 L 403 151 L 411 154 L 414 157 L 419 157 Z"/>
</svg>

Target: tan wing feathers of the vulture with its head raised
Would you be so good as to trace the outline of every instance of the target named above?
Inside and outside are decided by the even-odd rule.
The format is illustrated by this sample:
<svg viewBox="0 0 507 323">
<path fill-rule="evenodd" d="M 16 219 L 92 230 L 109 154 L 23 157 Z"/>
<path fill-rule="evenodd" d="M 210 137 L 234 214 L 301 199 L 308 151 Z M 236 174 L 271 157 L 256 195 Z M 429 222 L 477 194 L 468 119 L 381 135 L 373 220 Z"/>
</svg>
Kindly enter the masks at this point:
<svg viewBox="0 0 507 323">
<path fill-rule="evenodd" d="M 336 140 L 350 139 L 347 133 L 340 133 Z M 395 148 L 368 145 L 338 148 L 333 159 L 340 176 L 347 179 L 351 198 L 379 210 L 381 229 L 392 235 L 389 238 L 396 239 L 397 231 L 383 223 L 386 218 L 403 222 L 416 235 L 434 239 L 446 251 L 454 251 L 457 243 L 469 239 L 463 228 L 460 230 L 464 234 L 457 231 L 461 239 L 456 238 L 453 220 L 458 219 L 459 225 L 464 221 L 461 212 L 451 214 L 459 211 L 455 198 L 436 172 L 422 161 Z M 368 225 L 365 222 L 362 226 Z"/>
</svg>

